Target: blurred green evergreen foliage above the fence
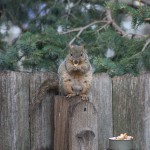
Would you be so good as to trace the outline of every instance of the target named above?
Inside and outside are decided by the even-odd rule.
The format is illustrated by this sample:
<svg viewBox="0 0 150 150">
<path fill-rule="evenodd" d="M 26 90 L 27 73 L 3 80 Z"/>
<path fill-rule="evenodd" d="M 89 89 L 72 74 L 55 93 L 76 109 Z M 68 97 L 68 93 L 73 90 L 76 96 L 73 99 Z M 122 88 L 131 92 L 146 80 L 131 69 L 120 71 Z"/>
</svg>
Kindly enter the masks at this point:
<svg viewBox="0 0 150 150">
<path fill-rule="evenodd" d="M 150 70 L 150 45 L 142 51 L 149 35 L 129 38 L 104 20 L 106 9 L 112 11 L 112 18 L 118 25 L 120 14 L 128 13 L 133 17 L 133 27 L 137 28 L 144 22 L 149 23 L 149 6 L 134 8 L 128 4 L 98 0 L 72 2 L 73 6 L 69 1 L 61 0 L 0 2 L 1 22 L 9 20 L 22 29 L 21 36 L 11 46 L 0 36 L 0 69 L 18 70 L 21 60 L 22 65 L 32 71 L 57 72 L 60 61 L 67 54 L 67 45 L 75 38 L 73 44 L 85 45 L 95 72 L 115 76 L 137 75 L 140 71 Z M 90 25 L 94 21 L 97 22 Z M 81 34 L 77 36 L 79 31 Z M 108 49 L 114 51 L 114 56 L 106 56 Z"/>
</svg>

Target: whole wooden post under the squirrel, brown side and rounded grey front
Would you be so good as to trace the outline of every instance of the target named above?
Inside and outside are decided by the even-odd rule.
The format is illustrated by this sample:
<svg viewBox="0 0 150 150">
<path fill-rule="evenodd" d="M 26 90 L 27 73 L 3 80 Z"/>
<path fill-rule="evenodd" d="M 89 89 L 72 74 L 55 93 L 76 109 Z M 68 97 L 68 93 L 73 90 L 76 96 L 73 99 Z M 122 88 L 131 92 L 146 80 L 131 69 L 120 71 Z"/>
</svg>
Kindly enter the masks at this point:
<svg viewBox="0 0 150 150">
<path fill-rule="evenodd" d="M 98 150 L 97 111 L 80 97 L 55 97 L 54 150 Z"/>
</svg>

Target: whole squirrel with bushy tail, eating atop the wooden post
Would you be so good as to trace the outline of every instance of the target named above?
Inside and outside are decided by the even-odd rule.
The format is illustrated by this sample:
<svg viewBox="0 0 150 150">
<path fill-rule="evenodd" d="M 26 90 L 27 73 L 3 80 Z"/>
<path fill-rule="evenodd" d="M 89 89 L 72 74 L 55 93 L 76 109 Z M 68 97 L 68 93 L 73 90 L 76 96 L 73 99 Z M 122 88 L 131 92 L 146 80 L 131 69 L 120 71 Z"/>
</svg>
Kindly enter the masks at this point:
<svg viewBox="0 0 150 150">
<path fill-rule="evenodd" d="M 52 74 L 45 80 L 33 100 L 32 106 L 42 101 L 48 90 L 58 90 L 67 97 L 81 96 L 88 100 L 88 92 L 92 84 L 93 70 L 84 46 L 69 45 L 69 53 L 58 68 L 58 78 Z"/>
</svg>

